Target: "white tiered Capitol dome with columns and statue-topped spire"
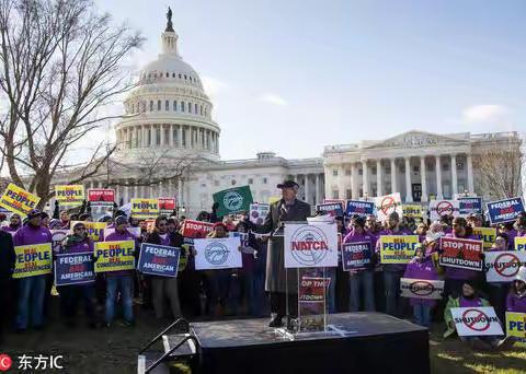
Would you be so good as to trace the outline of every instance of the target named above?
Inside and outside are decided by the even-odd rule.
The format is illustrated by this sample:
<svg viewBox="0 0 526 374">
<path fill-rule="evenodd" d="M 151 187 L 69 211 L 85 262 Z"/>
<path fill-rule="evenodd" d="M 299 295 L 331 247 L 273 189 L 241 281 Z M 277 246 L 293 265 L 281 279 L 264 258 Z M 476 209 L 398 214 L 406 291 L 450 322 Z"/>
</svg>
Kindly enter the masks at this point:
<svg viewBox="0 0 526 374">
<path fill-rule="evenodd" d="M 183 60 L 179 36 L 169 19 L 161 34 L 162 52 L 139 73 L 137 86 L 124 101 L 125 117 L 116 127 L 117 156 L 145 154 L 219 160 L 219 126 L 197 72 Z"/>
</svg>

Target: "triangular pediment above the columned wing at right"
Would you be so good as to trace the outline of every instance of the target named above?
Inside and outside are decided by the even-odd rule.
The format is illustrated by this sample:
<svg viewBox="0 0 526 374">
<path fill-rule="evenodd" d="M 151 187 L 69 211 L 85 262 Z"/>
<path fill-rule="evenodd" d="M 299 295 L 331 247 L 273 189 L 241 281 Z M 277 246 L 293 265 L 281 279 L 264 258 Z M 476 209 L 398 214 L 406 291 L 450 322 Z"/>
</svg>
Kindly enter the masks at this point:
<svg viewBox="0 0 526 374">
<path fill-rule="evenodd" d="M 436 147 L 439 144 L 465 144 L 467 141 L 448 136 L 425 132 L 425 131 L 408 131 L 399 136 L 380 140 L 374 144 L 367 144 L 366 149 L 385 149 L 385 148 L 422 148 Z"/>
</svg>

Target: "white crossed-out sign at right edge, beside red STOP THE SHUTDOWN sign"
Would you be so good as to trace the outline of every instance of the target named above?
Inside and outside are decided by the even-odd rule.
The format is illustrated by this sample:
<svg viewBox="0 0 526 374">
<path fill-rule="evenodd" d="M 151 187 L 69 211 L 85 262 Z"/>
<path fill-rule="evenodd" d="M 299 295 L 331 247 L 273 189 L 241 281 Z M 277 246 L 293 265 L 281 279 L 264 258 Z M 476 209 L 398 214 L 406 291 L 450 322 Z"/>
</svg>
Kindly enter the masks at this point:
<svg viewBox="0 0 526 374">
<path fill-rule="evenodd" d="M 511 282 L 518 268 L 526 262 L 526 252 L 487 252 L 484 256 L 485 280 L 488 282 Z"/>
</svg>

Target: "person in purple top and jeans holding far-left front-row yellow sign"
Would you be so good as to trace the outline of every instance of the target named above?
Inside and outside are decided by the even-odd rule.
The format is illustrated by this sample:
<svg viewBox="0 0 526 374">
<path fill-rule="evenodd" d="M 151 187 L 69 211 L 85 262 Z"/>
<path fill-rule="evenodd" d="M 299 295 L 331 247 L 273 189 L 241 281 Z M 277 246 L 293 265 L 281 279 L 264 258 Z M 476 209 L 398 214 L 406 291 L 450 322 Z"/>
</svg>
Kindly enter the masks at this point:
<svg viewBox="0 0 526 374">
<path fill-rule="evenodd" d="M 27 224 L 13 236 L 15 246 L 53 243 L 52 232 L 41 225 L 41 211 L 34 209 L 27 214 Z M 24 331 L 31 324 L 35 328 L 44 326 L 44 297 L 46 279 L 49 274 L 24 277 L 18 280 L 16 329 Z"/>
</svg>

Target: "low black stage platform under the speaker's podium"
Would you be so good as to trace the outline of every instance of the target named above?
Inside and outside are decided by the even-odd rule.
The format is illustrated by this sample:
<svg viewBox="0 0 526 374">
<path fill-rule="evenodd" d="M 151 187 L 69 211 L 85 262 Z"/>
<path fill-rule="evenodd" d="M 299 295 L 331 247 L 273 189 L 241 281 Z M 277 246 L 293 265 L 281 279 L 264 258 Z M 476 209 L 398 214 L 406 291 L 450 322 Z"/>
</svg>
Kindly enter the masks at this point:
<svg viewBox="0 0 526 374">
<path fill-rule="evenodd" d="M 346 334 L 290 340 L 268 319 L 191 324 L 193 373 L 430 373 L 427 329 L 380 313 L 342 313 L 328 325 Z M 169 349 L 178 336 L 164 337 Z"/>
</svg>

